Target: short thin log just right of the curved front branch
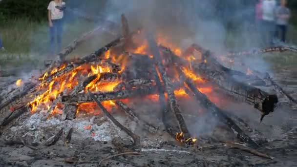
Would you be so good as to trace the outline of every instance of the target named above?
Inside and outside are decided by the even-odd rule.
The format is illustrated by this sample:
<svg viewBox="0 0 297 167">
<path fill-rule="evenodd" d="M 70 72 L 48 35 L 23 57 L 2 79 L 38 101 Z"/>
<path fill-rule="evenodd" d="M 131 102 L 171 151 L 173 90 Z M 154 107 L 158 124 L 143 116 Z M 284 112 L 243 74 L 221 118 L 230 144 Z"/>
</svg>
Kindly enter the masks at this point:
<svg viewBox="0 0 297 167">
<path fill-rule="evenodd" d="M 154 127 L 153 125 L 148 124 L 146 121 L 140 120 L 139 116 L 131 109 L 129 108 L 126 104 L 124 104 L 121 101 L 116 101 L 115 104 L 119 106 L 127 115 L 128 117 L 136 122 L 137 124 L 142 125 L 146 130 L 148 130 L 150 133 L 156 133 L 157 128 Z"/>
</svg>

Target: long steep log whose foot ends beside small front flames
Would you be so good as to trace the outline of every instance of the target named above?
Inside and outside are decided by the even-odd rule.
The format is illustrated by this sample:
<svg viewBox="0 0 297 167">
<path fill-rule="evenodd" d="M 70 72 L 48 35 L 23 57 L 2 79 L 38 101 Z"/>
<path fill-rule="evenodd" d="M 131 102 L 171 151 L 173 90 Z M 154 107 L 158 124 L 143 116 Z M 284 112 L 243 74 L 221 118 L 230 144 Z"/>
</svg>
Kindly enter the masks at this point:
<svg viewBox="0 0 297 167">
<path fill-rule="evenodd" d="M 180 108 L 176 102 L 176 98 L 174 95 L 174 89 L 173 89 L 173 85 L 170 81 L 170 79 L 167 76 L 166 70 L 164 65 L 162 64 L 162 58 L 159 52 L 159 48 L 157 46 L 157 43 L 155 42 L 155 40 L 153 39 L 153 36 L 149 36 L 148 37 L 148 45 L 150 47 L 151 52 L 153 53 L 153 58 L 154 58 L 154 62 L 157 64 L 158 70 L 161 74 L 162 80 L 165 84 L 165 90 L 168 94 L 168 99 L 169 99 L 169 103 L 170 103 L 170 108 L 171 111 L 174 113 L 175 118 L 178 122 L 179 125 L 179 129 L 180 132 L 184 133 L 184 137 L 187 140 L 188 138 L 191 137 L 187 125 L 185 123 L 185 120 L 181 114 Z M 178 132 L 177 132 L 178 133 Z"/>
</svg>

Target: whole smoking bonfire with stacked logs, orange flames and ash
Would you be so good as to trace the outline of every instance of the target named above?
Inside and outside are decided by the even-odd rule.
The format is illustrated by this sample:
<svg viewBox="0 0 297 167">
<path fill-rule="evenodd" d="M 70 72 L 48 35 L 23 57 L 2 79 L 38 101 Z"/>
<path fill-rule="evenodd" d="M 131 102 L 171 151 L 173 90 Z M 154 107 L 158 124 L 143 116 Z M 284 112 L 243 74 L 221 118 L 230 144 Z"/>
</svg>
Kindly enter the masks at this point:
<svg viewBox="0 0 297 167">
<path fill-rule="evenodd" d="M 253 82 L 266 84 L 269 78 L 250 68 L 247 74 L 227 68 L 222 63 L 232 58 L 219 60 L 198 44 L 182 52 L 146 29 L 130 33 L 124 15 L 122 21 L 123 37 L 81 59 L 54 61 L 39 79 L 17 81 L 15 89 L 1 98 L 1 133 L 7 134 L 12 125 L 23 120 L 24 126 L 12 130 L 55 129 L 51 136 L 46 130 L 38 131 L 42 135 L 36 131 L 31 141 L 35 144 L 51 146 L 61 136 L 69 143 L 75 129 L 99 141 L 128 135 L 133 145 L 139 146 L 168 140 L 165 129 L 180 144 L 189 146 L 199 145 L 199 136 L 189 130 L 189 117 L 210 115 L 208 118 L 215 118 L 241 142 L 259 146 L 238 125 L 243 121 L 220 106 L 228 103 L 222 100 L 228 96 L 260 111 L 262 121 L 274 111 L 278 97 Z M 78 42 L 74 43 L 60 58 L 76 47 Z M 194 105 L 187 108 L 189 104 L 184 102 Z M 137 133 L 137 129 L 144 131 Z"/>
</svg>

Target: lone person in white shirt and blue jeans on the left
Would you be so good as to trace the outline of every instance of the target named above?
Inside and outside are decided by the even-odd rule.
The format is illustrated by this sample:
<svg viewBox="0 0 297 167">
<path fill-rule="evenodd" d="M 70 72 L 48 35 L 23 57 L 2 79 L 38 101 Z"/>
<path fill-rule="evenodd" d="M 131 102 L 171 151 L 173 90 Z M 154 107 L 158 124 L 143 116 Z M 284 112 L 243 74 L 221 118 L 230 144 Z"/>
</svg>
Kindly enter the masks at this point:
<svg viewBox="0 0 297 167">
<path fill-rule="evenodd" d="M 52 0 L 47 7 L 51 54 L 55 54 L 55 40 L 57 40 L 58 51 L 62 48 L 64 8 L 65 2 L 62 0 Z"/>
</svg>

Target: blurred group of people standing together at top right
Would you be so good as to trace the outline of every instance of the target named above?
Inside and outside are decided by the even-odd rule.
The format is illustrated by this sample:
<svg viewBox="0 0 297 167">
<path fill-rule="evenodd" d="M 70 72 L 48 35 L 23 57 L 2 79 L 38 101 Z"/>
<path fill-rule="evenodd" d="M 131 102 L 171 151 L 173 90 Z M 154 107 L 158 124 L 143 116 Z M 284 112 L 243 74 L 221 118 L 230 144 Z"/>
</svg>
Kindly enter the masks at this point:
<svg viewBox="0 0 297 167">
<path fill-rule="evenodd" d="M 267 44 L 286 42 L 288 22 L 291 17 L 287 0 L 259 0 L 256 4 L 256 25 L 261 39 Z M 280 35 L 280 37 L 279 37 Z"/>
</svg>

